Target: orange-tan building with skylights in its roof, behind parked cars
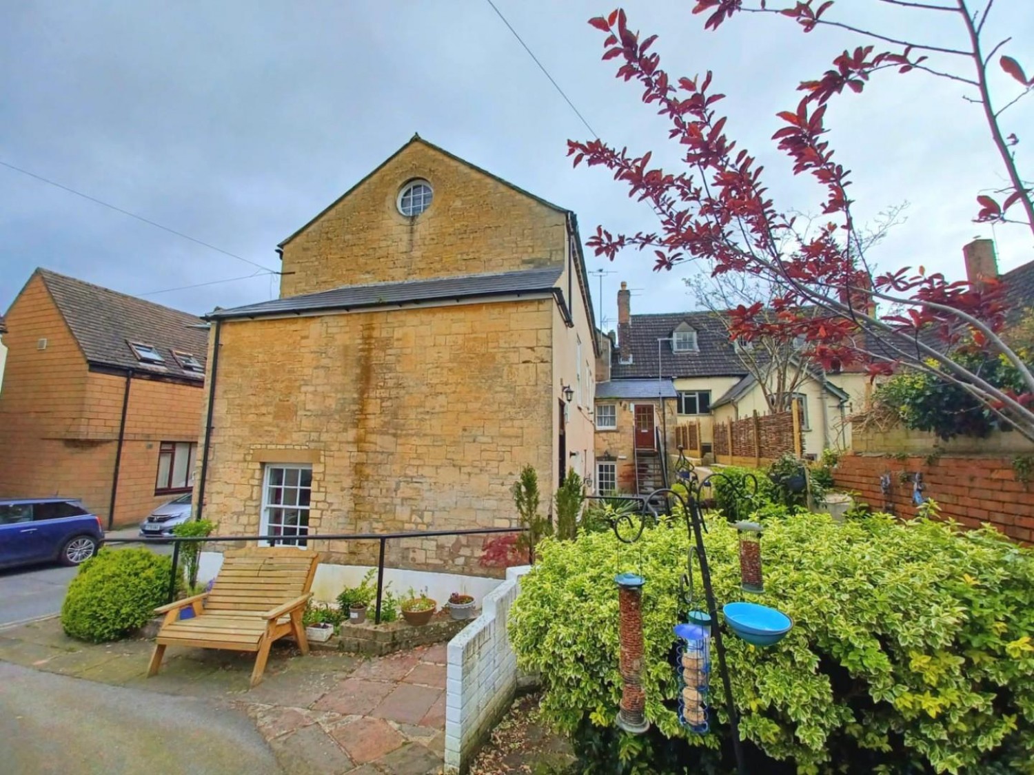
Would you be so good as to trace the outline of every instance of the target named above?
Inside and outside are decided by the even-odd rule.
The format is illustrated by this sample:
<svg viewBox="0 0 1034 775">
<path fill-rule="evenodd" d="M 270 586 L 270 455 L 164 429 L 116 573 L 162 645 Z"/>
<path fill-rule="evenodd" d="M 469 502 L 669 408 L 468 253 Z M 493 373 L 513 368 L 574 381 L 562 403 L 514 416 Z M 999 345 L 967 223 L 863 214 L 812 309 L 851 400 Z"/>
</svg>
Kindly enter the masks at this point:
<svg viewBox="0 0 1034 775">
<path fill-rule="evenodd" d="M 189 492 L 201 319 L 42 269 L 4 319 L 0 497 L 82 498 L 121 526 Z"/>
</svg>

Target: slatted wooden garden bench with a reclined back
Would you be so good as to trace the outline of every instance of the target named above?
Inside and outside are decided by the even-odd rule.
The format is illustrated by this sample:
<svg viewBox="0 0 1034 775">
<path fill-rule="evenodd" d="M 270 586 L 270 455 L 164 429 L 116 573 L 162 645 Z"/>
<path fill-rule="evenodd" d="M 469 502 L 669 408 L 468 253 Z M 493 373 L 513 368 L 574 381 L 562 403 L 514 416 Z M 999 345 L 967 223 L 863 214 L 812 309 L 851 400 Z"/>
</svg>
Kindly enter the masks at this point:
<svg viewBox="0 0 1034 775">
<path fill-rule="evenodd" d="M 273 641 L 293 633 L 298 648 L 308 654 L 302 614 L 320 559 L 316 552 L 287 547 L 226 552 L 210 592 L 155 609 L 165 620 L 147 675 L 157 675 L 166 646 L 254 651 L 252 686 L 262 681 Z M 180 619 L 187 607 L 193 618 Z"/>
</svg>

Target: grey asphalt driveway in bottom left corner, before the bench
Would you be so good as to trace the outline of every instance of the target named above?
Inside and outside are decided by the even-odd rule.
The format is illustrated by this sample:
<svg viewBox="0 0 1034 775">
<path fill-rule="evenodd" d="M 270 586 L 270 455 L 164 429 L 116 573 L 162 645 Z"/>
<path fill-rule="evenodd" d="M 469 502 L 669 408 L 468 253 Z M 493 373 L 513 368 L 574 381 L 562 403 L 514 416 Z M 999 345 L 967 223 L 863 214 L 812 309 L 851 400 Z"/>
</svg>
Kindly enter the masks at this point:
<svg viewBox="0 0 1034 775">
<path fill-rule="evenodd" d="M 224 706 L 2 661 L 0 686 L 0 762 L 5 772 L 282 772 L 247 715 Z"/>
</svg>

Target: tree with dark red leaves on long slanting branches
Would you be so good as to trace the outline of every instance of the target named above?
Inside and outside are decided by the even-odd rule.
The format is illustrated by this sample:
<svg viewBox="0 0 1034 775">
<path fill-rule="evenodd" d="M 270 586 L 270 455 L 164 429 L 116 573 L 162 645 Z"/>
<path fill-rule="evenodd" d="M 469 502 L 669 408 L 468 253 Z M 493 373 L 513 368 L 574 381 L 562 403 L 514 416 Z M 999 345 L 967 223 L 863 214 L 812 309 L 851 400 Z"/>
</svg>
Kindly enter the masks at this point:
<svg viewBox="0 0 1034 775">
<path fill-rule="evenodd" d="M 954 82 L 982 112 L 1008 181 L 996 196 L 976 197 L 975 220 L 1017 224 L 1034 234 L 1031 184 L 1021 177 L 1014 157 L 1017 138 L 1005 134 L 1001 123 L 1003 113 L 1032 90 L 1034 78 L 1028 78 L 1015 59 L 1000 55 L 1007 41 L 985 51 L 982 34 L 994 0 L 979 8 L 971 8 L 967 0 L 870 3 L 951 17 L 965 30 L 968 44 L 945 48 L 862 29 L 834 19 L 833 0 L 801 0 L 778 8 L 766 0 L 759 0 L 757 7 L 748 7 L 743 0 L 698 0 L 693 7 L 693 13 L 703 14 L 708 30 L 718 30 L 737 13 L 753 12 L 781 18 L 804 33 L 831 26 L 861 39 L 858 48 L 837 56 L 826 72 L 800 84 L 803 96 L 794 109 L 777 114 L 784 126 L 772 140 L 793 160 L 794 174 L 814 177 L 822 192 L 818 209 L 824 223 L 818 228 L 801 226 L 789 211 L 774 206 L 755 157 L 726 133 L 727 119 L 716 110 L 724 95 L 716 90 L 711 72 L 703 78 L 670 76 L 650 51 L 657 36 L 640 38 L 629 28 L 624 10 L 590 20 L 606 34 L 603 59 L 619 60 L 617 78 L 638 81 L 643 102 L 670 121 L 669 138 L 685 151 L 685 167 L 651 167 L 649 152 L 636 156 L 600 140 L 569 141 L 576 166 L 584 160 L 608 167 L 615 180 L 629 186 L 630 196 L 647 202 L 660 219 L 660 230 L 635 235 L 613 235 L 601 226 L 587 244 L 611 259 L 624 248 L 651 250 L 658 270 L 704 259 L 718 278 L 727 273 L 754 275 L 778 292 L 767 306 L 760 301 L 739 306 L 732 313 L 732 337 L 802 336 L 809 354 L 825 368 L 864 364 L 874 377 L 903 366 L 934 372 L 1034 439 L 1034 375 L 1002 339 L 1000 283 L 949 282 L 922 267 L 874 277 L 852 216 L 849 172 L 834 159 L 824 137 L 829 101 L 845 90 L 861 92 L 880 71 Z M 852 9 L 859 4 L 852 0 Z M 1024 6 L 1026 0 L 1013 4 Z M 992 67 L 1000 67 L 1016 83 L 1015 93 L 1001 103 L 989 87 Z M 805 315 L 802 309 L 810 311 Z M 978 369 L 956 363 L 952 352 L 967 346 L 1007 359 L 1023 390 L 997 388 L 981 378 Z"/>
</svg>

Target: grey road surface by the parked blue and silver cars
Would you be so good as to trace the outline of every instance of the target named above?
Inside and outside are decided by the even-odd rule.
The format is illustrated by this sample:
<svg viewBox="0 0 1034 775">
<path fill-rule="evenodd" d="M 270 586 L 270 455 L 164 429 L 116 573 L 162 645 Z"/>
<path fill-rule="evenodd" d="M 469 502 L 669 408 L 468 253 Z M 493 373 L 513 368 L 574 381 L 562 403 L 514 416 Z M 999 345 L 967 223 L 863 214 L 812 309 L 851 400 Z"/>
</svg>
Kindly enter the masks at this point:
<svg viewBox="0 0 1034 775">
<path fill-rule="evenodd" d="M 135 535 L 136 528 L 108 533 L 110 538 L 130 538 Z M 115 544 L 112 548 L 124 546 L 141 545 Z M 173 551 L 171 544 L 152 544 L 150 549 L 158 554 L 172 554 Z M 78 570 L 79 568 L 57 564 L 0 570 L 0 629 L 61 613 L 65 590 Z"/>
</svg>

